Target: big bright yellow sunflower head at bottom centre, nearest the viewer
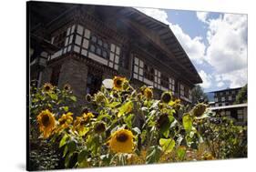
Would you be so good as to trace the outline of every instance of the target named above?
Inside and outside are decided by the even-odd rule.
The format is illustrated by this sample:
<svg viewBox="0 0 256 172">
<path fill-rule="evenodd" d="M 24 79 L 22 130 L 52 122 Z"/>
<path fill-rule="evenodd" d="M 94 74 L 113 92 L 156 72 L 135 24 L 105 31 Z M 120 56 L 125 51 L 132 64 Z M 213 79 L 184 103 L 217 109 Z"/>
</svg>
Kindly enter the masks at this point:
<svg viewBox="0 0 256 172">
<path fill-rule="evenodd" d="M 128 129 L 119 129 L 108 140 L 108 147 L 116 153 L 131 153 L 134 147 L 133 134 Z"/>
</svg>

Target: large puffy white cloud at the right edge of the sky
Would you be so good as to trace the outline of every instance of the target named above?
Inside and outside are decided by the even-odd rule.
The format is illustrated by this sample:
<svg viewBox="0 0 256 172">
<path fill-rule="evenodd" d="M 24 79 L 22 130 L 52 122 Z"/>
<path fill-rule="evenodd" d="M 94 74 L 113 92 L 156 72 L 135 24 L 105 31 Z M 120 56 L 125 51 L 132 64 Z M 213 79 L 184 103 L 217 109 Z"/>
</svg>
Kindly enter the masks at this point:
<svg viewBox="0 0 256 172">
<path fill-rule="evenodd" d="M 247 16 L 224 14 L 209 20 L 206 60 L 214 67 L 217 86 L 247 83 Z M 225 82 L 225 83 L 226 83 Z"/>
</svg>

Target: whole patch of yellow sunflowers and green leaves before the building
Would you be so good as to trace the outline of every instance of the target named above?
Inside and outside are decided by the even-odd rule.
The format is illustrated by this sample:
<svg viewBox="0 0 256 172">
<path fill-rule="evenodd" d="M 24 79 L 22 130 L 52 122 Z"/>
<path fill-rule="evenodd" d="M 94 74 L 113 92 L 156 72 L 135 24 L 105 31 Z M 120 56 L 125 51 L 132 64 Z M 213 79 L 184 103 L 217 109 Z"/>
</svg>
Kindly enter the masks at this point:
<svg viewBox="0 0 256 172">
<path fill-rule="evenodd" d="M 142 165 L 247 157 L 247 128 L 207 105 L 183 106 L 170 92 L 134 89 L 124 77 L 103 81 L 75 109 L 69 85 L 31 87 L 32 170 Z"/>
</svg>

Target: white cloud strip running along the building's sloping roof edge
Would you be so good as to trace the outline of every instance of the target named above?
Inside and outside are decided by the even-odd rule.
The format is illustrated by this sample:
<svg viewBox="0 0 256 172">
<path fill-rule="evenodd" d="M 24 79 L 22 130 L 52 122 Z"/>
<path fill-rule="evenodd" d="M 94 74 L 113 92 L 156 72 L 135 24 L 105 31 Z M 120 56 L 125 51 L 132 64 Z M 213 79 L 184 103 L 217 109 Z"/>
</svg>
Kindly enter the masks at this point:
<svg viewBox="0 0 256 172">
<path fill-rule="evenodd" d="M 164 10 L 153 8 L 137 9 L 140 12 L 159 20 L 166 25 L 169 25 L 170 29 L 173 31 L 174 35 L 176 35 L 180 45 L 184 48 L 189 58 L 195 63 L 202 64 L 206 48 L 204 43 L 202 42 L 202 37 L 196 36 L 194 38 L 191 38 L 182 30 L 179 25 L 174 25 L 168 21 L 168 15 Z"/>
</svg>

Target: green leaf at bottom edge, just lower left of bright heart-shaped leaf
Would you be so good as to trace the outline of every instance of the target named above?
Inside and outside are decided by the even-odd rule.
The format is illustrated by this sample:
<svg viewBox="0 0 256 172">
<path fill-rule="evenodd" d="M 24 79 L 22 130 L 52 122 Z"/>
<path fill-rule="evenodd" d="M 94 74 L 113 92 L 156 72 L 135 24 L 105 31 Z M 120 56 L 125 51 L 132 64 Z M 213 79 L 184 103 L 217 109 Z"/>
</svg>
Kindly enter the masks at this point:
<svg viewBox="0 0 256 172">
<path fill-rule="evenodd" d="M 159 161 L 161 155 L 161 147 L 153 146 L 148 148 L 146 164 L 153 164 Z"/>
</svg>

